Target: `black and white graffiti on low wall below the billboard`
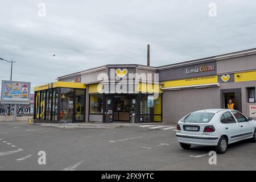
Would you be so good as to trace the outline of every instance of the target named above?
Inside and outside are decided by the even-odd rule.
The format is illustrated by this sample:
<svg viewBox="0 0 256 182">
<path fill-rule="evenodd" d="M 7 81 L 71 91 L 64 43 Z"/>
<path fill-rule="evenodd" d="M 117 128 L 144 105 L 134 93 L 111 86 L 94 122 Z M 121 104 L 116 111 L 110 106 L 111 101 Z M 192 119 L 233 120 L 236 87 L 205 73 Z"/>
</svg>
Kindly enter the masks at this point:
<svg viewBox="0 0 256 182">
<path fill-rule="evenodd" d="M 10 114 L 13 114 L 14 105 L 10 105 Z M 31 105 L 18 105 L 17 114 L 33 114 Z M 9 105 L 0 105 L 0 114 L 7 115 L 9 113 Z"/>
</svg>

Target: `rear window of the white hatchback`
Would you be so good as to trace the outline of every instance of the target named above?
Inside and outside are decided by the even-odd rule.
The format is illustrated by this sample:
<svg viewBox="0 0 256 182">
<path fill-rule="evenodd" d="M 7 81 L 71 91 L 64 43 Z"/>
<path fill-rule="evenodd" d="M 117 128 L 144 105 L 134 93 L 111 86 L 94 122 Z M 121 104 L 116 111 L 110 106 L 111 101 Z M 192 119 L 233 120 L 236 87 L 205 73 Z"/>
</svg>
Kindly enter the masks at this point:
<svg viewBox="0 0 256 182">
<path fill-rule="evenodd" d="M 214 113 L 191 113 L 184 117 L 181 121 L 186 123 L 208 123 L 213 116 Z"/>
</svg>

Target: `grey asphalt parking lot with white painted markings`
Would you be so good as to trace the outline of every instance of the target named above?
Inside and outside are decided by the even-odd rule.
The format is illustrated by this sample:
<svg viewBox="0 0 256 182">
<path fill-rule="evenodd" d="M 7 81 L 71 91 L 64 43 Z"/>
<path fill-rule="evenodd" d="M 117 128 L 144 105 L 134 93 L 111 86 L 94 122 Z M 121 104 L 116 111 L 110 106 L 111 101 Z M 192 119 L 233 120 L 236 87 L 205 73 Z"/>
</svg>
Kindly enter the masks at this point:
<svg viewBox="0 0 256 182">
<path fill-rule="evenodd" d="M 0 170 L 256 170 L 256 144 L 229 146 L 209 165 L 210 147 L 183 150 L 175 129 L 156 126 L 56 129 L 0 123 Z M 161 125 L 162 126 L 162 125 Z M 46 165 L 38 152 L 46 152 Z"/>
</svg>

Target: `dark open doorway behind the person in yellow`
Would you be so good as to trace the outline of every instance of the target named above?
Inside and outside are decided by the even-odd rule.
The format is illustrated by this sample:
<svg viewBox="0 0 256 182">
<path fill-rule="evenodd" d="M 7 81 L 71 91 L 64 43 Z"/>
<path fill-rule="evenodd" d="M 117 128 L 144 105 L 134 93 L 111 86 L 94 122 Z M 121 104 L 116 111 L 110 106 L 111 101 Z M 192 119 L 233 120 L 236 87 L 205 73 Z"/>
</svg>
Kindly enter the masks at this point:
<svg viewBox="0 0 256 182">
<path fill-rule="evenodd" d="M 221 90 L 221 108 L 228 109 L 229 100 L 234 103 L 234 109 L 242 112 L 241 89 Z"/>
</svg>

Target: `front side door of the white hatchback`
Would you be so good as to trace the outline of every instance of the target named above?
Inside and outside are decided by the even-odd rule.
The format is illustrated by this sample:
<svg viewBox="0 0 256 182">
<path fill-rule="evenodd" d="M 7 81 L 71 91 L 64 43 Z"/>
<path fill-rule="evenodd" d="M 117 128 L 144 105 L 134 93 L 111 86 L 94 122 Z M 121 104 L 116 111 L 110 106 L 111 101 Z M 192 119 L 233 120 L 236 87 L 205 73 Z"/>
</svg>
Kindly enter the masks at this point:
<svg viewBox="0 0 256 182">
<path fill-rule="evenodd" d="M 238 125 L 240 126 L 240 136 L 241 138 L 247 138 L 253 136 L 254 127 L 251 125 L 249 119 L 247 119 L 243 114 L 238 111 L 231 111 L 236 118 Z"/>
</svg>

